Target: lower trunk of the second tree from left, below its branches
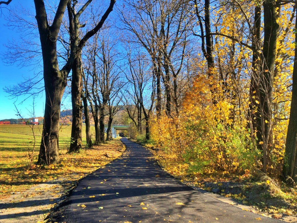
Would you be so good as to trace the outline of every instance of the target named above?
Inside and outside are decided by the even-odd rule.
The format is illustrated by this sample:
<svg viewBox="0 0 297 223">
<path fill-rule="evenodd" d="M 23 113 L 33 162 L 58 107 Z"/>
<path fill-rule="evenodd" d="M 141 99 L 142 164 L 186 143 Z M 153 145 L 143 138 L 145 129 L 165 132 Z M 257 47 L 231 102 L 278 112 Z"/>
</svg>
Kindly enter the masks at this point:
<svg viewBox="0 0 297 223">
<path fill-rule="evenodd" d="M 80 70 L 80 55 L 72 66 L 71 100 L 72 100 L 72 128 L 69 152 L 78 152 L 82 148 L 82 114 L 81 101 L 82 76 Z"/>
</svg>

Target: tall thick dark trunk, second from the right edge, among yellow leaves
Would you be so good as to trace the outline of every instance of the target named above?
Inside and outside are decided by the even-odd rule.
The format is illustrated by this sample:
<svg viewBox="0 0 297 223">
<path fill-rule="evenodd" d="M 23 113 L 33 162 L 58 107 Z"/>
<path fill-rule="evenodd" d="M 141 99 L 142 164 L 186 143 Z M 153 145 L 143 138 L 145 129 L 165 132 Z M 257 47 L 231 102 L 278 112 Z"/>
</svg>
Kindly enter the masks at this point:
<svg viewBox="0 0 297 223">
<path fill-rule="evenodd" d="M 263 69 L 259 81 L 258 113 L 261 114 L 261 132 L 263 137 L 263 170 L 269 163 L 269 150 L 272 148 L 272 92 L 274 80 L 274 65 L 276 57 L 276 43 L 279 25 L 277 23 L 276 1 L 263 2 L 264 41 L 263 41 Z M 260 130 L 260 129 L 259 129 Z"/>
</svg>

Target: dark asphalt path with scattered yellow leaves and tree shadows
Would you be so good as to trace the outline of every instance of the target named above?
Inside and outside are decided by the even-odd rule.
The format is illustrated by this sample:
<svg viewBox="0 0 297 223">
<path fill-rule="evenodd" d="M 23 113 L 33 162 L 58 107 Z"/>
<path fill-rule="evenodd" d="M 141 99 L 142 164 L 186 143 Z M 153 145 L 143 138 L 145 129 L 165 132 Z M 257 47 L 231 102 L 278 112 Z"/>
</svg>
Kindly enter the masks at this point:
<svg viewBox="0 0 297 223">
<path fill-rule="evenodd" d="M 51 215 L 53 222 L 232 223 L 259 222 L 259 217 L 260 222 L 279 222 L 185 186 L 164 172 L 148 150 L 121 140 L 126 152 L 81 180 Z"/>
</svg>

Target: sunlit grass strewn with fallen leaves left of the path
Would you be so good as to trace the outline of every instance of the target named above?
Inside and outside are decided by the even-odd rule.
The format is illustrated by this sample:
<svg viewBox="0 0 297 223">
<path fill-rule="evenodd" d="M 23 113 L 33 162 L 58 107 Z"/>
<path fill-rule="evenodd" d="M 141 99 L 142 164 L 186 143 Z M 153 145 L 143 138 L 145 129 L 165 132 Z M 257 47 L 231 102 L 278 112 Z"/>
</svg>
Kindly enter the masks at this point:
<svg viewBox="0 0 297 223">
<path fill-rule="evenodd" d="M 25 131 L 23 127 L 9 129 L 15 132 Z M 80 153 L 69 154 L 67 153 L 69 136 L 65 135 L 59 137 L 61 163 L 40 166 L 29 165 L 28 151 L 33 147 L 33 136 L 30 136 L 29 132 L 28 135 L 0 132 L 0 199 L 42 182 L 59 179 L 63 184 L 66 181 L 79 180 L 99 166 L 119 157 L 125 149 L 119 139 L 114 139 L 100 146 L 83 149 Z M 40 141 L 41 136 L 37 136 L 33 162 L 37 161 Z"/>
</svg>

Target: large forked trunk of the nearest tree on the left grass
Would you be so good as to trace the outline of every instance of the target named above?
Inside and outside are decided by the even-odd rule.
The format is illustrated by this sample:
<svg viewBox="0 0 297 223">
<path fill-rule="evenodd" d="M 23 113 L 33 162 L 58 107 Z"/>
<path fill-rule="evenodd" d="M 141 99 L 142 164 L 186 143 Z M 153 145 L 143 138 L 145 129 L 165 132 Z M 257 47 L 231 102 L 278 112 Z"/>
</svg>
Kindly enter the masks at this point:
<svg viewBox="0 0 297 223">
<path fill-rule="evenodd" d="M 61 0 L 52 25 L 48 25 L 45 4 L 34 0 L 36 21 L 40 34 L 45 86 L 45 111 L 38 164 L 59 163 L 59 123 L 61 98 L 67 85 L 70 61 L 59 70 L 57 59 L 57 36 L 68 0 Z"/>
</svg>

